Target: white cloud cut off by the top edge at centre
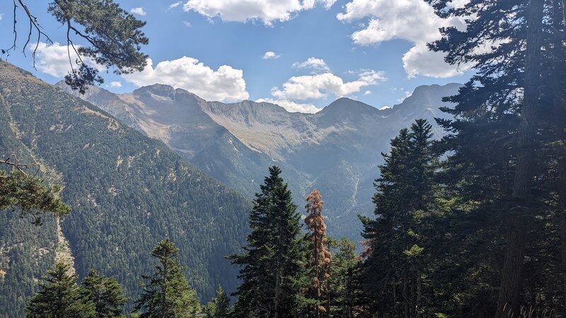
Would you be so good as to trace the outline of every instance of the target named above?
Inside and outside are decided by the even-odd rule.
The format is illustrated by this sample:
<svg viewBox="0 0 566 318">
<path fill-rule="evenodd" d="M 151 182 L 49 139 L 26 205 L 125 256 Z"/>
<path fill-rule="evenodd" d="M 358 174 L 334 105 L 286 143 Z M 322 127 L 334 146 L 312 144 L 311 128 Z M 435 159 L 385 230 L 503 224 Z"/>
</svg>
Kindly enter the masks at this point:
<svg viewBox="0 0 566 318">
<path fill-rule="evenodd" d="M 287 21 L 299 11 L 317 4 L 329 9 L 336 0 L 188 0 L 183 9 L 195 11 L 207 18 L 220 17 L 225 21 L 246 22 L 261 20 L 265 25 Z"/>
</svg>

